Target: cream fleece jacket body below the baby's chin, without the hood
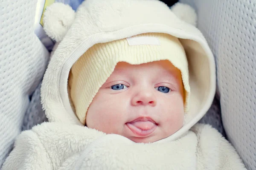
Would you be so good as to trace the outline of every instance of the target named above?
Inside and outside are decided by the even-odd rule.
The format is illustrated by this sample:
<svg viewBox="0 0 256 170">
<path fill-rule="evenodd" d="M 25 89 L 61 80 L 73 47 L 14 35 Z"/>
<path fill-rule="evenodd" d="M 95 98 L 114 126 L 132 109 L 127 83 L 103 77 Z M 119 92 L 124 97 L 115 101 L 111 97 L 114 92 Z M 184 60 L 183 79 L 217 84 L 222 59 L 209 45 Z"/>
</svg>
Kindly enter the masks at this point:
<svg viewBox="0 0 256 170">
<path fill-rule="evenodd" d="M 209 125 L 198 124 L 176 141 L 142 144 L 53 122 L 21 133 L 2 170 L 17 169 L 246 170 L 234 148 Z"/>
</svg>

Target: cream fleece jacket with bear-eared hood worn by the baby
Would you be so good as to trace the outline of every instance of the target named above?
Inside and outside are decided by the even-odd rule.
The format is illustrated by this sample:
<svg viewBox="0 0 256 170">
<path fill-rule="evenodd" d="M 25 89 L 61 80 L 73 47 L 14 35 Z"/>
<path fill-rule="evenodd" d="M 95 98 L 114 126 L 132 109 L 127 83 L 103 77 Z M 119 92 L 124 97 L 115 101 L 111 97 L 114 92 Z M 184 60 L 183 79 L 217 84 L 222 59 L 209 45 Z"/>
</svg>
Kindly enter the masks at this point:
<svg viewBox="0 0 256 170">
<path fill-rule="evenodd" d="M 157 0 L 85 0 L 76 13 L 60 3 L 47 8 L 45 30 L 60 42 L 41 88 L 49 122 L 18 136 L 2 170 L 245 170 L 217 130 L 196 124 L 215 94 L 215 63 L 204 36 L 192 25 L 195 12 L 184 15 L 189 10 L 180 4 L 171 10 Z M 142 144 L 81 125 L 67 88 L 72 65 L 96 43 L 147 32 L 176 36 L 186 51 L 191 97 L 183 127 L 166 139 Z"/>
</svg>

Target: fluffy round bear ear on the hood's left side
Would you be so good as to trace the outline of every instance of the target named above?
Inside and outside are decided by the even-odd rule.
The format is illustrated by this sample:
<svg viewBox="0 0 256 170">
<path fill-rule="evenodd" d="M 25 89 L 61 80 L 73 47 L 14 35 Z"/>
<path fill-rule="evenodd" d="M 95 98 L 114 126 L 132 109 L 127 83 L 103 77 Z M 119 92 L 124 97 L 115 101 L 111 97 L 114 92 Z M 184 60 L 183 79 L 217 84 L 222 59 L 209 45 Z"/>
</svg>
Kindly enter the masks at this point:
<svg viewBox="0 0 256 170">
<path fill-rule="evenodd" d="M 44 11 L 44 31 L 50 38 L 59 42 L 67 34 L 75 17 L 76 13 L 69 5 L 53 3 Z"/>
</svg>

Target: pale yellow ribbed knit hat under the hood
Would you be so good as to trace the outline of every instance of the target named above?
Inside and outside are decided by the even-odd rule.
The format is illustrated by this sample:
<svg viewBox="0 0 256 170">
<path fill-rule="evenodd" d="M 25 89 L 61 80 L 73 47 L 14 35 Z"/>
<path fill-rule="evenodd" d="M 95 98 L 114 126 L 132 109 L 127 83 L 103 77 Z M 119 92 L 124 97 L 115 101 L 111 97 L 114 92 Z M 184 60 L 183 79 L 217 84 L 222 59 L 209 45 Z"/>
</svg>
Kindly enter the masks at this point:
<svg viewBox="0 0 256 170">
<path fill-rule="evenodd" d="M 169 60 L 181 71 L 188 111 L 190 94 L 188 61 L 177 37 L 163 33 L 146 33 L 134 37 L 99 43 L 89 48 L 72 66 L 69 77 L 70 99 L 76 116 L 85 124 L 93 97 L 113 72 L 118 62 L 142 64 Z"/>
</svg>

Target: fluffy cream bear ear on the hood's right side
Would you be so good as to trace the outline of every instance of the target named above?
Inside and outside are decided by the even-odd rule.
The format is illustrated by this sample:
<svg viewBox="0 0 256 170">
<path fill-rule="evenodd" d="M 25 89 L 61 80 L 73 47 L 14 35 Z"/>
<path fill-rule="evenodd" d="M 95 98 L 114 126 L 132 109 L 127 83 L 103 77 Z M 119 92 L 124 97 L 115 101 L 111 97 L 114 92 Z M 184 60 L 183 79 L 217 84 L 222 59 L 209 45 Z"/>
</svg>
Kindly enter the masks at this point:
<svg viewBox="0 0 256 170">
<path fill-rule="evenodd" d="M 180 20 L 185 21 L 186 23 L 192 24 L 193 26 L 197 25 L 197 14 L 195 9 L 185 3 L 175 3 L 170 7 L 172 12 L 180 18 Z"/>
</svg>

